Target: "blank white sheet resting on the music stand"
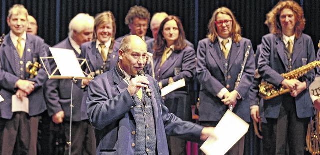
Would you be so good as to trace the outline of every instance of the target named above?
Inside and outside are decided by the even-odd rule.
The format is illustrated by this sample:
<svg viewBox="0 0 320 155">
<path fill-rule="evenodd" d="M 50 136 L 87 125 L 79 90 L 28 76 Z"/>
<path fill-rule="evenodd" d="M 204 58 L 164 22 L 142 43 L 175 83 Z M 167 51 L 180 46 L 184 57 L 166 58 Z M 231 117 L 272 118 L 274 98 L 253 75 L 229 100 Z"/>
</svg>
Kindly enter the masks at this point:
<svg viewBox="0 0 320 155">
<path fill-rule="evenodd" d="M 73 50 L 50 47 L 50 51 L 61 76 L 85 77 Z"/>
</svg>

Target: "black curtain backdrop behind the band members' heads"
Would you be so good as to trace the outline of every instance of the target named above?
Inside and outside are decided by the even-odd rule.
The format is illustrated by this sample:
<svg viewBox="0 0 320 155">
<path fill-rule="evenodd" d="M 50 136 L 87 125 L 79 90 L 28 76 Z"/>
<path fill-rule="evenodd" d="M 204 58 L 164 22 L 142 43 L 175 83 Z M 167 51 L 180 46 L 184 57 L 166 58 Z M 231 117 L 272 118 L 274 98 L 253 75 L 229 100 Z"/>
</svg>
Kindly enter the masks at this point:
<svg viewBox="0 0 320 155">
<path fill-rule="evenodd" d="M 38 21 L 38 35 L 53 46 L 67 37 L 68 23 L 77 13 L 95 16 L 110 10 L 116 18 L 116 37 L 129 32 L 124 18 L 129 8 L 141 5 L 155 12 L 164 11 L 179 16 L 182 20 L 186 37 L 195 47 L 199 40 L 205 38 L 207 25 L 213 11 L 221 6 L 230 8 L 242 27 L 242 36 L 252 41 L 254 49 L 261 43 L 261 38 L 268 33 L 264 25 L 265 14 L 279 0 L 0 0 L 1 33 L 8 33 L 6 17 L 9 8 L 16 3 L 23 4 Z M 318 50 L 320 39 L 320 1 L 295 0 L 304 10 L 306 26 L 304 33 L 310 35 L 314 47 Z M 148 36 L 152 36 L 148 30 Z"/>
</svg>

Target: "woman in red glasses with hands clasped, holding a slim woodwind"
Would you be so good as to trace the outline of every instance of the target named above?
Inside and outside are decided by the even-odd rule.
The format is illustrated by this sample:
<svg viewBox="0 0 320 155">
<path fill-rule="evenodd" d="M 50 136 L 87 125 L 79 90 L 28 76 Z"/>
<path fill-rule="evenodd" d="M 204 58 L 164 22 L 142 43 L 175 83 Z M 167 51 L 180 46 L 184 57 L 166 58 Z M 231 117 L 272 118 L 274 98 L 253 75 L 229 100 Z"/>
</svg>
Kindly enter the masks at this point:
<svg viewBox="0 0 320 155">
<path fill-rule="evenodd" d="M 241 64 L 251 41 L 241 37 L 240 25 L 230 9 L 215 10 L 208 25 L 208 37 L 200 40 L 197 49 L 196 73 L 200 82 L 199 121 L 203 126 L 215 127 L 232 104 L 233 112 L 250 121 L 249 103 L 245 102 L 254 76 L 254 52 L 249 50 L 241 81 L 235 88 Z M 225 53 L 222 41 L 225 39 Z M 224 42 L 224 41 L 223 41 Z M 236 129 L 234 129 L 236 132 Z M 243 138 L 227 155 L 243 155 Z M 242 145 L 244 146 L 244 144 Z"/>
</svg>

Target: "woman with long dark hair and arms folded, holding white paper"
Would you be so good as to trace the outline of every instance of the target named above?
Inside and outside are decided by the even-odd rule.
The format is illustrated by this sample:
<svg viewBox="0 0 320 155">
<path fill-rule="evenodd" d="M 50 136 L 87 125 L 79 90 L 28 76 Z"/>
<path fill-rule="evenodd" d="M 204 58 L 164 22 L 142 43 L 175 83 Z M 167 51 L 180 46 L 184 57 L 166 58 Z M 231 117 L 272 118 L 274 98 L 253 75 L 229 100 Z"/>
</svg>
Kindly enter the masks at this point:
<svg viewBox="0 0 320 155">
<path fill-rule="evenodd" d="M 166 17 L 160 25 L 154 45 L 153 61 L 155 79 L 160 88 L 184 79 L 186 86 L 163 97 L 169 111 L 182 120 L 191 119 L 191 99 L 188 84 L 195 75 L 195 51 L 185 43 L 185 34 L 180 19 Z M 170 155 L 186 155 L 186 141 L 168 137 Z"/>
</svg>

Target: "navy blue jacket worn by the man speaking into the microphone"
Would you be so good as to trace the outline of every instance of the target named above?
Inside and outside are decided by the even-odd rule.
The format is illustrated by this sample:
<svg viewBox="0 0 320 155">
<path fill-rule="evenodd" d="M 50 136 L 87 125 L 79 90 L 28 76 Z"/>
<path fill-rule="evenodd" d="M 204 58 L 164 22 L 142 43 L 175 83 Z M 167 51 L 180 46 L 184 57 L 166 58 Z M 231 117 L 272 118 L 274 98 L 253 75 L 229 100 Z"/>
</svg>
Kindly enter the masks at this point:
<svg viewBox="0 0 320 155">
<path fill-rule="evenodd" d="M 149 88 L 156 129 L 158 155 L 169 155 L 166 134 L 186 140 L 200 140 L 202 126 L 182 121 L 169 113 L 164 106 L 158 82 L 149 75 Z M 98 155 L 134 155 L 136 130 L 134 118 L 134 100 L 127 90 L 127 83 L 121 78 L 115 67 L 95 77 L 88 88 L 87 109 L 92 125 L 96 128 Z"/>
</svg>

